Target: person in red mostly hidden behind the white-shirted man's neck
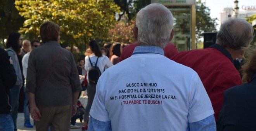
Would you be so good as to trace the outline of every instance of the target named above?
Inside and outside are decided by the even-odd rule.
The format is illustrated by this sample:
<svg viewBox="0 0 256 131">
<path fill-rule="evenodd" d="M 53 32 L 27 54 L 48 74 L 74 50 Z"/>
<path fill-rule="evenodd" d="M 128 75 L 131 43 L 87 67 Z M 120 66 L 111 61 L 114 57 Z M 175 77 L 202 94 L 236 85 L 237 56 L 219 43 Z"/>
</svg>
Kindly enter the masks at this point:
<svg viewBox="0 0 256 131">
<path fill-rule="evenodd" d="M 123 49 L 121 56 L 118 59 L 118 62 L 121 62 L 122 60 L 129 58 L 131 56 L 131 54 L 133 53 L 133 50 L 135 49 L 136 46 L 137 46 L 136 42 L 134 42 L 133 44 L 127 45 Z M 173 55 L 176 55 L 178 53 L 179 53 L 179 51 L 178 51 L 177 47 L 172 43 L 168 43 L 166 45 L 166 47 L 164 48 L 164 56 L 166 56 L 169 59 L 171 59 L 171 57 Z"/>
</svg>

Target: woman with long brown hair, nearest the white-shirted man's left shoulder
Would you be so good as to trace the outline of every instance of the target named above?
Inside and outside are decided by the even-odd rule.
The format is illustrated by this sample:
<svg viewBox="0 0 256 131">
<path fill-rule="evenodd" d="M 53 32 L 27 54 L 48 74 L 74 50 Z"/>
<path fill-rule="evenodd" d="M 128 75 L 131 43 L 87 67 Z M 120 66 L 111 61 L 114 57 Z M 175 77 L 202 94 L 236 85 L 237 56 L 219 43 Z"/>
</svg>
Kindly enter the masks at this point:
<svg viewBox="0 0 256 131">
<path fill-rule="evenodd" d="M 109 60 L 115 65 L 118 63 L 118 58 L 121 56 L 122 46 L 120 43 L 114 44 L 111 48 Z"/>
</svg>

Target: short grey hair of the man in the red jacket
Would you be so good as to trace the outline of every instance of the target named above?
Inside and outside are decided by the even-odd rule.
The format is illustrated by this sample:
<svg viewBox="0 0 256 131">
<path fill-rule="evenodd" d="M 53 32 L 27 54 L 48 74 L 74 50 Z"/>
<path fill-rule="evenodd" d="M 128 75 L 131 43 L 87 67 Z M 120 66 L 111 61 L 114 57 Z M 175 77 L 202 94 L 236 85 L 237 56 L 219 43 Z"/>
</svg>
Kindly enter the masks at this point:
<svg viewBox="0 0 256 131">
<path fill-rule="evenodd" d="M 231 18 L 221 24 L 216 43 L 225 48 L 243 50 L 253 40 L 253 26 L 241 18 Z"/>
</svg>

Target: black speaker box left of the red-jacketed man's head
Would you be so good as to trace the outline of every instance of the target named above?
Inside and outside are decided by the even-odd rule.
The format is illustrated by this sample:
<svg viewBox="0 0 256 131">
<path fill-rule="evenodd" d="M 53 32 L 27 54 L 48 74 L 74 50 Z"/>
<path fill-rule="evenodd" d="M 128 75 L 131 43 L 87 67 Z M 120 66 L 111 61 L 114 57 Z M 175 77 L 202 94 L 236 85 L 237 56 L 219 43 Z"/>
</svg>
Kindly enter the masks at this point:
<svg viewBox="0 0 256 131">
<path fill-rule="evenodd" d="M 215 44 L 216 36 L 217 36 L 217 32 L 205 32 L 204 33 L 204 49 Z"/>
</svg>

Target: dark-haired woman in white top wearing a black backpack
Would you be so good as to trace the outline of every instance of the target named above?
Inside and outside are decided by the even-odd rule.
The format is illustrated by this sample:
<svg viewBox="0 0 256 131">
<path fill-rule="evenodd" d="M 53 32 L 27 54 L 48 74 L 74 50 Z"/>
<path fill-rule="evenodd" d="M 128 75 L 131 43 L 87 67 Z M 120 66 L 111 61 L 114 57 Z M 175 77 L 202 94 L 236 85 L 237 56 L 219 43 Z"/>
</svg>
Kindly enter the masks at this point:
<svg viewBox="0 0 256 131">
<path fill-rule="evenodd" d="M 84 127 L 82 127 L 82 130 L 86 130 L 88 128 L 87 121 L 92 106 L 93 98 L 95 96 L 97 81 L 100 75 L 105 71 L 105 69 L 113 66 L 112 62 L 108 59 L 108 57 L 106 55 L 102 55 L 100 47 L 95 40 L 90 41 L 89 47 L 90 50 L 92 50 L 92 54 L 85 57 L 85 70 L 87 71 L 86 80 L 88 82 L 88 102 L 85 107 L 85 114 L 83 117 Z"/>
</svg>

